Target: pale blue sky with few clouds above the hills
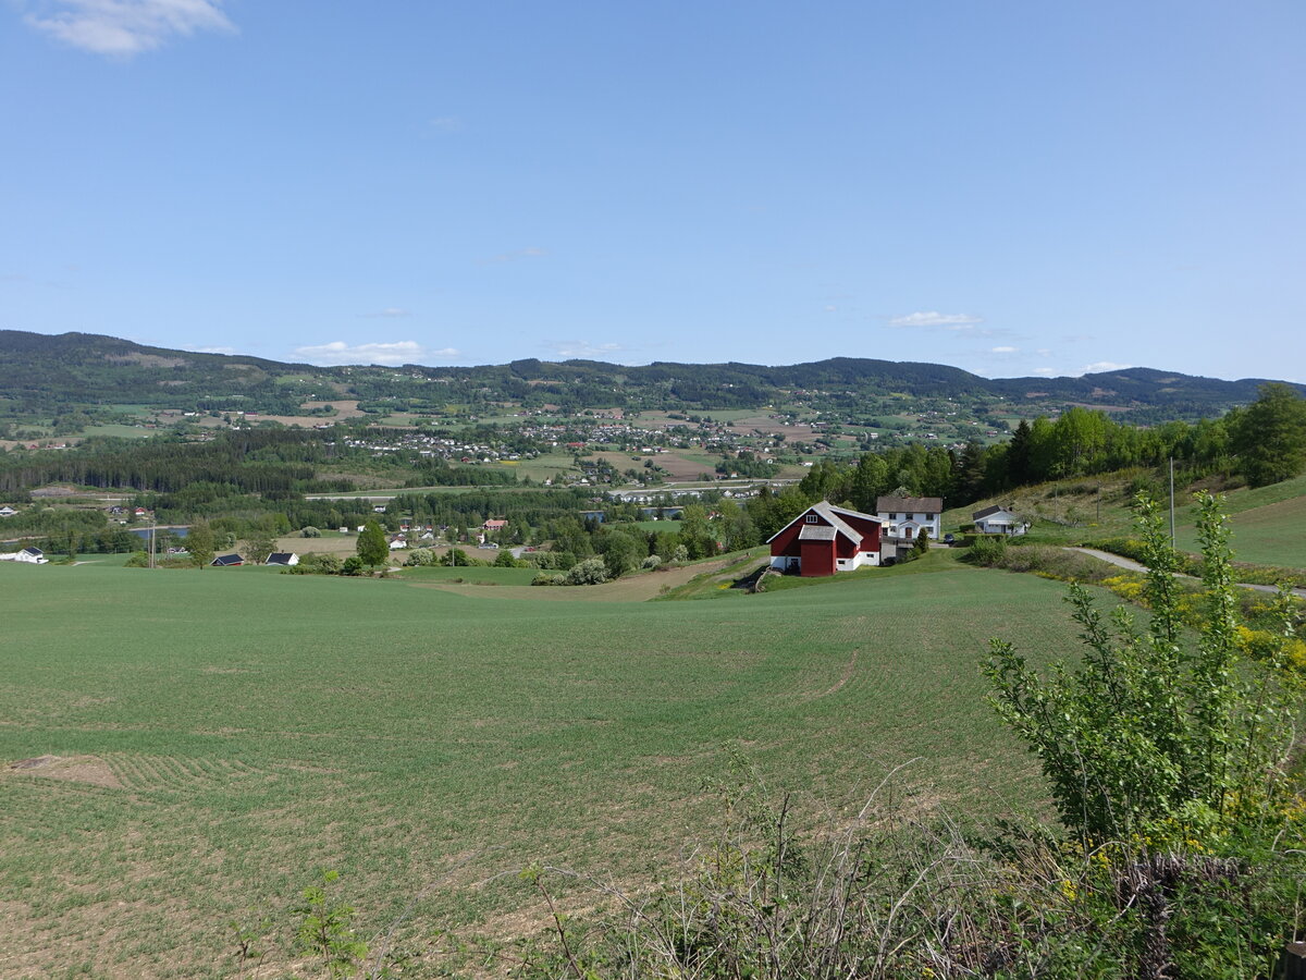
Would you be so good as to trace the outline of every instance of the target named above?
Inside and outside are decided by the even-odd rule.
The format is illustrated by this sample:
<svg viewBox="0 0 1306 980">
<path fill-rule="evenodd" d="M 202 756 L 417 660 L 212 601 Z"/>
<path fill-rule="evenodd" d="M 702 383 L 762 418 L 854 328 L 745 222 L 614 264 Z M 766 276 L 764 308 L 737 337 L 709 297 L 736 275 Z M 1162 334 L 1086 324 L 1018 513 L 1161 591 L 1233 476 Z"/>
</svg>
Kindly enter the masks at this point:
<svg viewBox="0 0 1306 980">
<path fill-rule="evenodd" d="M 0 0 L 0 327 L 1306 380 L 1301 0 Z"/>
</svg>

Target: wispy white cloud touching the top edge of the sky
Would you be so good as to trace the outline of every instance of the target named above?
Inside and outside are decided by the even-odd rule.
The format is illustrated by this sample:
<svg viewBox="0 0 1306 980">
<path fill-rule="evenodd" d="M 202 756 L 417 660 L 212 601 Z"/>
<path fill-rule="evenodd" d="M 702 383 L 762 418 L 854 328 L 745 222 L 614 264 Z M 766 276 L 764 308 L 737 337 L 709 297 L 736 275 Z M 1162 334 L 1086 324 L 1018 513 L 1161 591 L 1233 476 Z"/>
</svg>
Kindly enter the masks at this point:
<svg viewBox="0 0 1306 980">
<path fill-rule="evenodd" d="M 132 57 L 201 30 L 234 31 L 222 0 L 35 0 L 24 21 L 97 55 Z"/>
</svg>

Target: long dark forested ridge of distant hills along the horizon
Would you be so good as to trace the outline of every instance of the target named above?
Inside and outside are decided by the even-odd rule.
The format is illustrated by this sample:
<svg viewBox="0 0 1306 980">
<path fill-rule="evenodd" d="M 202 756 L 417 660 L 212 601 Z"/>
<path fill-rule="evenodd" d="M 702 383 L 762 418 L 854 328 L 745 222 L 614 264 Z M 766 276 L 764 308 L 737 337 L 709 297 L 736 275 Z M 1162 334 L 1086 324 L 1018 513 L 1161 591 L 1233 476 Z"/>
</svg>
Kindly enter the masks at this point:
<svg viewBox="0 0 1306 980">
<path fill-rule="evenodd" d="M 0 331 L 0 412 L 9 418 L 77 405 L 145 405 L 294 413 L 310 399 L 525 406 L 662 409 L 757 408 L 795 396 L 857 406 L 883 395 L 1007 400 L 1058 410 L 1066 405 L 1128 410 L 1144 421 L 1218 414 L 1256 397 L 1264 379 L 1226 382 L 1134 367 L 1081 378 L 990 380 L 946 365 L 831 358 L 812 363 L 640 367 L 599 361 L 513 361 L 478 367 L 315 367 L 264 358 L 153 348 L 89 333 L 47 336 Z M 1306 393 L 1306 385 L 1293 385 Z"/>
</svg>

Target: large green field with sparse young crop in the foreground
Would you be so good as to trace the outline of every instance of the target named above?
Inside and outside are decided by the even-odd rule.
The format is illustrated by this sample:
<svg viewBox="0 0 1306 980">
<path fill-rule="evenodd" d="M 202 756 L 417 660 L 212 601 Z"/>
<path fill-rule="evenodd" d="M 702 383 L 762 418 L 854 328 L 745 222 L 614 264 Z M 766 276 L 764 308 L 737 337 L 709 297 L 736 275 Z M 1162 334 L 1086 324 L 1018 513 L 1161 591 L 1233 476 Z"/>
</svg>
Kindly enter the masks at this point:
<svg viewBox="0 0 1306 980">
<path fill-rule="evenodd" d="M 366 934 L 438 881 L 414 923 L 529 932 L 538 903 L 494 875 L 645 881 L 707 835 L 727 746 L 818 822 L 913 759 L 912 808 L 1037 800 L 977 664 L 993 635 L 1036 661 L 1077 648 L 1055 583 L 949 566 L 733 601 L 432 588 L 516 571 L 0 566 L 0 976 L 227 975 L 229 920 L 285 920 L 321 868 Z"/>
</svg>

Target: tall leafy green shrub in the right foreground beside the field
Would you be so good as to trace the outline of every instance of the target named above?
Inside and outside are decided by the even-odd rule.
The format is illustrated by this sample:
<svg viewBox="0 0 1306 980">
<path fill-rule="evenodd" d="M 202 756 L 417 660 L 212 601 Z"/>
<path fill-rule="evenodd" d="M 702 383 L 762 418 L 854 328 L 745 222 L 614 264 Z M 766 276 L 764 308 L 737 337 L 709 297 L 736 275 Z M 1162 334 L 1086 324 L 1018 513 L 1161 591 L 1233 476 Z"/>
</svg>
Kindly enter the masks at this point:
<svg viewBox="0 0 1306 980">
<path fill-rule="evenodd" d="M 1195 639 L 1160 508 L 1147 498 L 1138 507 L 1147 629 L 1123 608 L 1104 615 L 1072 585 L 1081 665 L 1040 677 L 994 640 L 986 674 L 994 707 L 1038 755 L 1062 822 L 1084 845 L 1213 848 L 1281 802 L 1294 691 L 1275 664 L 1239 657 L 1229 529 L 1215 498 L 1198 502 L 1205 625 Z"/>
</svg>

